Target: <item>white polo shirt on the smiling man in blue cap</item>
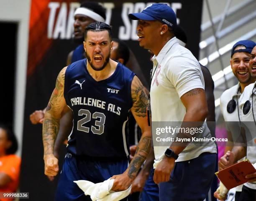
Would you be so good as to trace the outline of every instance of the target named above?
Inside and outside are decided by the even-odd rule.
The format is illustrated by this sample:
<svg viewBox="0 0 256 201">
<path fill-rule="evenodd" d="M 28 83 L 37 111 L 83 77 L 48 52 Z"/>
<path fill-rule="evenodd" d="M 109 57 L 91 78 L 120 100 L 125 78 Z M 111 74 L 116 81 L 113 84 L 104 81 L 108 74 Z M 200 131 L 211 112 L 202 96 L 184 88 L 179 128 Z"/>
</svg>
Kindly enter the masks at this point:
<svg viewBox="0 0 256 201">
<path fill-rule="evenodd" d="M 220 110 L 224 117 L 225 126 L 227 131 L 232 134 L 233 141 L 236 141 L 241 134 L 241 127 L 239 122 L 239 117 L 241 117 L 241 110 L 238 110 L 239 98 L 241 96 L 240 83 L 234 85 L 233 87 L 225 90 L 220 96 Z M 232 113 L 228 113 L 227 106 L 230 100 L 235 100 L 236 108 Z M 236 100 L 237 99 L 237 100 Z M 239 113 L 239 116 L 238 116 Z M 243 161 L 245 158 L 242 158 L 240 161 Z M 236 191 L 242 191 L 243 184 L 236 187 Z"/>
</svg>

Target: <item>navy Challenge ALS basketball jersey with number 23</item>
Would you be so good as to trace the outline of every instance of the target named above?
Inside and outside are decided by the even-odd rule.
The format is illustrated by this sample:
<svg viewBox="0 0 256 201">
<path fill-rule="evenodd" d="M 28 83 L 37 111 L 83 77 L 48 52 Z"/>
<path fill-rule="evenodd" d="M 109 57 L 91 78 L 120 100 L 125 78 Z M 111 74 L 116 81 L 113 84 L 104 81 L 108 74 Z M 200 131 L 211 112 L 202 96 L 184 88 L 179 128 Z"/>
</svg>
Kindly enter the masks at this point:
<svg viewBox="0 0 256 201">
<path fill-rule="evenodd" d="M 132 107 L 134 73 L 118 63 L 107 79 L 96 81 L 87 70 L 87 59 L 67 67 L 64 97 L 73 111 L 68 151 L 92 157 L 128 156 L 125 124 Z"/>
</svg>

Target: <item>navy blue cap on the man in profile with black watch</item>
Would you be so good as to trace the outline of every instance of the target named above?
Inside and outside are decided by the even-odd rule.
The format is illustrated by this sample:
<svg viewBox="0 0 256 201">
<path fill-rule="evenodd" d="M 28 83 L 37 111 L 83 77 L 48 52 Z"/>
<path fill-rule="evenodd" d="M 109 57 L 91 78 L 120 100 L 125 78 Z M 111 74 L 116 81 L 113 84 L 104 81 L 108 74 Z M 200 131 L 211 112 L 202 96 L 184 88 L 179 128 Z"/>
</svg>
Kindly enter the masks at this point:
<svg viewBox="0 0 256 201">
<path fill-rule="evenodd" d="M 141 13 L 129 14 L 131 20 L 159 20 L 161 23 L 175 28 L 177 26 L 176 14 L 167 4 L 153 3 L 148 5 Z"/>
</svg>

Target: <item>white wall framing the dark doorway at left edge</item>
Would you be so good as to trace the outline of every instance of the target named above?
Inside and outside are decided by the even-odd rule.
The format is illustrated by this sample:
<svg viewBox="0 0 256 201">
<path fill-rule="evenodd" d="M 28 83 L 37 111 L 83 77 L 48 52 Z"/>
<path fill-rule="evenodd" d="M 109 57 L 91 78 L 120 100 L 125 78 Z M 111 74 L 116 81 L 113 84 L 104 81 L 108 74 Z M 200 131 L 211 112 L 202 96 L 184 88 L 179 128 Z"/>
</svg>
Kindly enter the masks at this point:
<svg viewBox="0 0 256 201">
<path fill-rule="evenodd" d="M 18 23 L 15 102 L 13 114 L 14 132 L 16 133 L 19 143 L 18 155 L 21 155 L 23 134 L 30 3 L 31 0 L 0 0 L 0 22 Z"/>
</svg>

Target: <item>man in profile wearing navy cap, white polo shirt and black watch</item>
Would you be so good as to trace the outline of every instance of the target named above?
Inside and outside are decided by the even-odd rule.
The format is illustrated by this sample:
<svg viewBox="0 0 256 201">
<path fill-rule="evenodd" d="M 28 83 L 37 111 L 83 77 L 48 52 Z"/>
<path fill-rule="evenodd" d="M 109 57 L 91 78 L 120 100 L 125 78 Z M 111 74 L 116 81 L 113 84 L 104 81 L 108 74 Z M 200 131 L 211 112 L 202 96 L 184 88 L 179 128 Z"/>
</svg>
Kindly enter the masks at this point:
<svg viewBox="0 0 256 201">
<path fill-rule="evenodd" d="M 184 122 L 204 122 L 208 109 L 202 71 L 197 59 L 174 37 L 177 20 L 172 8 L 152 4 L 129 17 L 139 20 L 140 46 L 155 54 L 150 92 L 152 127 L 159 122 L 174 122 L 179 127 Z M 210 139 L 206 123 L 200 129 L 199 136 Z M 154 129 L 152 134 L 155 138 Z M 196 201 L 207 196 L 215 170 L 214 142 L 174 146 L 172 142 L 161 145 L 154 141 L 154 152 L 154 181 L 159 183 L 160 201 Z"/>
</svg>

